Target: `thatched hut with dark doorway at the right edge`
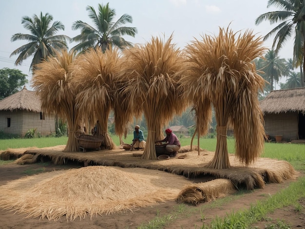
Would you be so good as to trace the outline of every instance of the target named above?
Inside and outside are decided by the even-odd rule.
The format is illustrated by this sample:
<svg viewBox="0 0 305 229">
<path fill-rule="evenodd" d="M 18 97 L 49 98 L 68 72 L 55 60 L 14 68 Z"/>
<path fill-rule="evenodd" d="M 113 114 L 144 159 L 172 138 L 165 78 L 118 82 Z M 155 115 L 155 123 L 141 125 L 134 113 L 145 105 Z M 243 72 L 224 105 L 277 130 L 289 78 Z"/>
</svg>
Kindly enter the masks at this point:
<svg viewBox="0 0 305 229">
<path fill-rule="evenodd" d="M 305 139 L 305 88 L 272 91 L 260 102 L 265 131 L 271 139 Z"/>
</svg>

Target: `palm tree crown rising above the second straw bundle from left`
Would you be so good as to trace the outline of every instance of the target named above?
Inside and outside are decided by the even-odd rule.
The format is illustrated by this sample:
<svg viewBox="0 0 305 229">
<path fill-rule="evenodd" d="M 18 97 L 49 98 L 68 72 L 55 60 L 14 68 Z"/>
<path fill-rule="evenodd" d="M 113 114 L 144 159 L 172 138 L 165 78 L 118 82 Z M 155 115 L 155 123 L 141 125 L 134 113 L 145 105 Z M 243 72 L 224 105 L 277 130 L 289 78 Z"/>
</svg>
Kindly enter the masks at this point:
<svg viewBox="0 0 305 229">
<path fill-rule="evenodd" d="M 80 42 L 72 48 L 73 50 L 80 52 L 88 48 L 100 47 L 105 52 L 106 49 L 109 49 L 110 44 L 121 49 L 132 46 L 131 42 L 122 37 L 124 35 L 134 37 L 137 33 L 137 29 L 134 27 L 122 26 L 126 23 L 132 23 L 132 16 L 124 14 L 117 21 L 114 21 L 115 10 L 109 7 L 109 3 L 106 5 L 98 4 L 98 12 L 95 12 L 92 6 L 87 6 L 86 9 L 95 27 L 81 20 L 73 23 L 72 29 L 81 30 L 81 34 L 73 38 L 73 41 Z"/>
</svg>

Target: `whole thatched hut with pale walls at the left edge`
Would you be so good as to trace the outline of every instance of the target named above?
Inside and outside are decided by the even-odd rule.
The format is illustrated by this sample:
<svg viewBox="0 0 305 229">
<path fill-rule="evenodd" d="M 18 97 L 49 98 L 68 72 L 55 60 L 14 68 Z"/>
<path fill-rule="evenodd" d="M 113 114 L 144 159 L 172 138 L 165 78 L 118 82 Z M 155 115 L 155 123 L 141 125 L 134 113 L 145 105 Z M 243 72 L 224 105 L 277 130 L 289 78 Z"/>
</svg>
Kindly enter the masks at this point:
<svg viewBox="0 0 305 229">
<path fill-rule="evenodd" d="M 41 135 L 55 132 L 53 117 L 41 112 L 41 102 L 36 92 L 26 87 L 0 100 L 0 130 L 7 134 L 24 136 L 29 129 Z"/>
</svg>

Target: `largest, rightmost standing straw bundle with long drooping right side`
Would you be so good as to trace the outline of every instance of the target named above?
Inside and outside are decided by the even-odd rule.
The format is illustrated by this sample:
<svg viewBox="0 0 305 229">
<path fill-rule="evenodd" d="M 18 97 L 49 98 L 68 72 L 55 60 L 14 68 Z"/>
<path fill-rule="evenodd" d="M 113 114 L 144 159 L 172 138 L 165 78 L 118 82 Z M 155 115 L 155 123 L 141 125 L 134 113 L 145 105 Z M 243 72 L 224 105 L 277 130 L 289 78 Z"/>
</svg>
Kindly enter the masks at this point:
<svg viewBox="0 0 305 229">
<path fill-rule="evenodd" d="M 257 98 L 265 80 L 256 73 L 252 60 L 266 50 L 251 31 L 233 33 L 219 29 L 218 36 L 202 36 L 187 45 L 189 71 L 181 80 L 185 93 L 200 99 L 205 112 L 215 109 L 217 145 L 209 168 L 229 168 L 227 128 L 232 126 L 236 156 L 248 165 L 264 147 L 263 114 Z M 210 104 L 211 103 L 211 104 Z"/>
</svg>

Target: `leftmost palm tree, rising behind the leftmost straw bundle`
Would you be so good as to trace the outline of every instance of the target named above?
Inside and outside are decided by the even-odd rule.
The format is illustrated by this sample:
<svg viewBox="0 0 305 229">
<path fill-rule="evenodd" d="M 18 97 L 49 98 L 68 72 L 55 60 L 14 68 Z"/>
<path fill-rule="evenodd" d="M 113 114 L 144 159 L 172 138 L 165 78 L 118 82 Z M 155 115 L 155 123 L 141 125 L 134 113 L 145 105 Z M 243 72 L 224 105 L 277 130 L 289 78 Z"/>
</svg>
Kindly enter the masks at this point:
<svg viewBox="0 0 305 229">
<path fill-rule="evenodd" d="M 35 69 L 35 65 L 40 63 L 47 57 L 54 56 L 56 51 L 67 49 L 66 40 L 70 40 L 68 36 L 56 35 L 59 30 L 64 30 L 65 26 L 60 21 L 52 23 L 53 16 L 46 13 L 42 15 L 34 15 L 33 18 L 23 17 L 21 24 L 30 31 L 30 34 L 14 34 L 11 41 L 27 40 L 29 43 L 22 45 L 12 54 L 18 55 L 15 64 L 21 65 L 22 61 L 30 56 L 33 56 L 30 70 Z M 52 23 L 52 24 L 51 24 Z"/>
</svg>

